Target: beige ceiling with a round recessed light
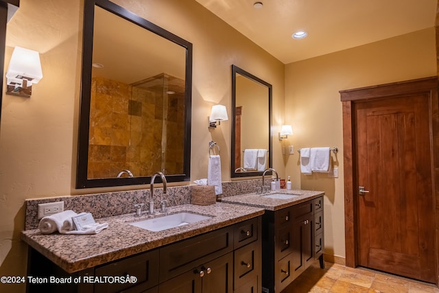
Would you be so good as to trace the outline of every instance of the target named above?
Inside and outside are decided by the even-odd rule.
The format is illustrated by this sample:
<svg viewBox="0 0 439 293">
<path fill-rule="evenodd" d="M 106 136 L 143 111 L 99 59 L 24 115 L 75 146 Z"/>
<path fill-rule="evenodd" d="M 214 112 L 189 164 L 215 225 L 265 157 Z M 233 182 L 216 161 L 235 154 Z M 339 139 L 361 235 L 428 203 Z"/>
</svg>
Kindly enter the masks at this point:
<svg viewBox="0 0 439 293">
<path fill-rule="evenodd" d="M 434 27 L 437 0 L 196 0 L 288 64 Z M 263 8 L 253 8 L 261 1 Z M 295 40 L 292 33 L 308 32 Z"/>
</svg>

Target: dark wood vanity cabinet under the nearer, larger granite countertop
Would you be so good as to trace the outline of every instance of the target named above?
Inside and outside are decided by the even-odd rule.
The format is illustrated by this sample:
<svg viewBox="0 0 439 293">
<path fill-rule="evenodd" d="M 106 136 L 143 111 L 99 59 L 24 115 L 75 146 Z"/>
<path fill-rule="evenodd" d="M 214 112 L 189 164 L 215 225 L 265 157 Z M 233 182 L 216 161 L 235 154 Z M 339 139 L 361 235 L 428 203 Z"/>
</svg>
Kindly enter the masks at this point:
<svg viewBox="0 0 439 293">
<path fill-rule="evenodd" d="M 73 274 L 67 274 L 36 250 L 29 251 L 30 276 L 99 280 L 130 275 L 137 277 L 137 282 L 38 284 L 28 285 L 27 292 L 250 293 L 261 292 L 262 288 L 261 217 Z"/>
</svg>

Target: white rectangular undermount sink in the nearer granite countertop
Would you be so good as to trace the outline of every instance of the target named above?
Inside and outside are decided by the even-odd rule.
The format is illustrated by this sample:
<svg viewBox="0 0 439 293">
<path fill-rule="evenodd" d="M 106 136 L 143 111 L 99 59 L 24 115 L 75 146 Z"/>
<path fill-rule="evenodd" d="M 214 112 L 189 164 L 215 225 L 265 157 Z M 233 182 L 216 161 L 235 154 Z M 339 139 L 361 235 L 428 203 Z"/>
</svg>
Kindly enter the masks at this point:
<svg viewBox="0 0 439 293">
<path fill-rule="evenodd" d="M 185 226 L 187 224 L 200 222 L 202 220 L 207 220 L 210 218 L 213 217 L 211 215 L 200 215 L 199 213 L 190 213 L 185 211 L 180 213 L 173 213 L 171 215 L 164 215 L 162 217 L 131 222 L 129 224 L 132 226 L 143 228 L 148 231 L 158 232 L 169 228 Z"/>
</svg>

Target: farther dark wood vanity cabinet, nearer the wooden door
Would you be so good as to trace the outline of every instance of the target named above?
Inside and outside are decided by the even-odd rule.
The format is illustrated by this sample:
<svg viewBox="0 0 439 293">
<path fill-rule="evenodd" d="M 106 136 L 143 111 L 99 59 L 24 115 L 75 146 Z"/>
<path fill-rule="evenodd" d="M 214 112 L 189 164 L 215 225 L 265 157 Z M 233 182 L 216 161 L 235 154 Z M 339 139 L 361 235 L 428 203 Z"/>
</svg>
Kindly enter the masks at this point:
<svg viewBox="0 0 439 293">
<path fill-rule="evenodd" d="M 323 198 L 265 211 L 262 228 L 263 292 L 281 292 L 316 259 L 323 268 Z"/>
</svg>

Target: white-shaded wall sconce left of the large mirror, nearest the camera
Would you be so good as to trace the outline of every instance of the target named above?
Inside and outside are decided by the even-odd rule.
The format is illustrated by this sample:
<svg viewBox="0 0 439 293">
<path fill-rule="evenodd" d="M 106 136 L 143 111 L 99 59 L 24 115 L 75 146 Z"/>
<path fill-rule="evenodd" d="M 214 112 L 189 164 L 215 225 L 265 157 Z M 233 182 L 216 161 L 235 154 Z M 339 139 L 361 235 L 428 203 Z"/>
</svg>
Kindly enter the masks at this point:
<svg viewBox="0 0 439 293">
<path fill-rule="evenodd" d="M 30 97 L 32 84 L 43 78 L 40 54 L 37 51 L 15 47 L 6 71 L 8 95 Z"/>
</svg>

